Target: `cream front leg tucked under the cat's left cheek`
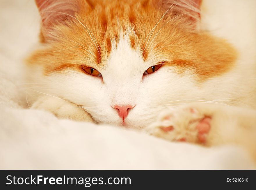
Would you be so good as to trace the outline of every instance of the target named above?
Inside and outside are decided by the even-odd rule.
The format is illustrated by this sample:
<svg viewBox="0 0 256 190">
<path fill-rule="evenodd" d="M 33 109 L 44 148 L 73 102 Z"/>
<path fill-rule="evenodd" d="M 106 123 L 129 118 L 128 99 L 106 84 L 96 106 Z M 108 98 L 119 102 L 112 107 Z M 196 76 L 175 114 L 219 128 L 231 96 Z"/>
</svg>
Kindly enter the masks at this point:
<svg viewBox="0 0 256 190">
<path fill-rule="evenodd" d="M 60 119 L 93 122 L 90 114 L 83 108 L 58 97 L 42 96 L 31 108 L 49 111 Z"/>
</svg>

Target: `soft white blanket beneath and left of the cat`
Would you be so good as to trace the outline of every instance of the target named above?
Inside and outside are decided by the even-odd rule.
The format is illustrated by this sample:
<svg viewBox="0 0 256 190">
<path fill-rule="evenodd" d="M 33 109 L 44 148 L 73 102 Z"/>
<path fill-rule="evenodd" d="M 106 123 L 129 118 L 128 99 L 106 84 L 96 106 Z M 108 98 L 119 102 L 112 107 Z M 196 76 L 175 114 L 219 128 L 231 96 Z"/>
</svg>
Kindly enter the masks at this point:
<svg viewBox="0 0 256 190">
<path fill-rule="evenodd" d="M 0 169 L 255 169 L 239 147 L 167 142 L 26 109 L 17 89 L 39 23 L 33 0 L 0 1 Z"/>
</svg>

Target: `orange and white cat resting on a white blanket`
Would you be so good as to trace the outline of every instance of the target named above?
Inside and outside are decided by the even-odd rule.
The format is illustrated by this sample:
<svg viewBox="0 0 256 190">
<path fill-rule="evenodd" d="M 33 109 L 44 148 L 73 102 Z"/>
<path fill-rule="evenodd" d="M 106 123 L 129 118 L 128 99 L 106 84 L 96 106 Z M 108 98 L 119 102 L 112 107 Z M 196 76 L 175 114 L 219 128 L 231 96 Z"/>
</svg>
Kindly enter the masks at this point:
<svg viewBox="0 0 256 190">
<path fill-rule="evenodd" d="M 201 0 L 35 3 L 31 108 L 170 141 L 236 143 L 256 159 L 256 64 L 205 29 Z"/>
</svg>

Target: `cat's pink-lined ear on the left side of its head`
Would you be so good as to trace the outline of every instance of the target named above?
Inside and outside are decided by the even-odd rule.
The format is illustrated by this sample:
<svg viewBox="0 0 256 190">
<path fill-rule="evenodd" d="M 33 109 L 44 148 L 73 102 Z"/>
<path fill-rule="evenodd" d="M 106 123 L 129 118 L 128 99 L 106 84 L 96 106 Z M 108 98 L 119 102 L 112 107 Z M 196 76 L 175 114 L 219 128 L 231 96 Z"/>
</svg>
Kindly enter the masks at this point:
<svg viewBox="0 0 256 190">
<path fill-rule="evenodd" d="M 54 26 L 74 20 L 79 8 L 77 0 L 35 0 L 35 3 L 42 19 L 41 41 L 54 39 Z"/>
</svg>

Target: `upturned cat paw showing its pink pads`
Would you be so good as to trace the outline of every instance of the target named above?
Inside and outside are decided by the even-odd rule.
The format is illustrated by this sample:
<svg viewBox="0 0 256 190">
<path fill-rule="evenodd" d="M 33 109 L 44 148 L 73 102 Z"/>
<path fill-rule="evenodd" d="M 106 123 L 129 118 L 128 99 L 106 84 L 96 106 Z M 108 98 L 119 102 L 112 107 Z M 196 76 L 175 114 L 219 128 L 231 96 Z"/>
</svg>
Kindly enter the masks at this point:
<svg viewBox="0 0 256 190">
<path fill-rule="evenodd" d="M 193 106 L 170 109 L 146 128 L 151 135 L 170 141 L 207 145 L 212 117 Z"/>
</svg>

